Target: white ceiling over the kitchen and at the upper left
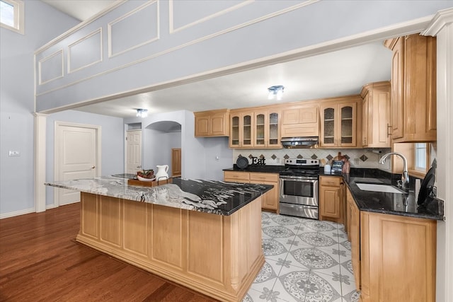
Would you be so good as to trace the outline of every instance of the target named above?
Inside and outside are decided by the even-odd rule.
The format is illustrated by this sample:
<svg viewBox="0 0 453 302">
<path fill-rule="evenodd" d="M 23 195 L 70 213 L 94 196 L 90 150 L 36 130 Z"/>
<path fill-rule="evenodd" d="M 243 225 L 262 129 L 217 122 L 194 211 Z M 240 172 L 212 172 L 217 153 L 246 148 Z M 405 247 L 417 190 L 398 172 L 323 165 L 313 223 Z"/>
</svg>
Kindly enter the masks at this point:
<svg viewBox="0 0 453 302">
<path fill-rule="evenodd" d="M 96 9 L 101 11 L 113 2 L 105 0 L 42 1 L 81 20 L 89 18 L 88 13 L 85 13 L 84 18 L 76 16 L 82 16 L 84 11 L 96 11 Z M 99 8 L 99 2 L 104 4 L 103 8 Z M 108 2 L 108 5 L 105 2 Z M 274 85 L 285 86 L 281 102 L 286 103 L 358 94 L 366 83 L 386 81 L 390 76 L 391 51 L 384 47 L 383 41 L 379 41 L 292 62 L 273 64 L 159 91 L 86 105 L 76 110 L 115 117 L 133 117 L 137 108 L 148 109 L 150 114 L 176 110 L 245 108 L 275 103 L 275 100 L 268 100 L 267 91 L 268 87 Z"/>
</svg>

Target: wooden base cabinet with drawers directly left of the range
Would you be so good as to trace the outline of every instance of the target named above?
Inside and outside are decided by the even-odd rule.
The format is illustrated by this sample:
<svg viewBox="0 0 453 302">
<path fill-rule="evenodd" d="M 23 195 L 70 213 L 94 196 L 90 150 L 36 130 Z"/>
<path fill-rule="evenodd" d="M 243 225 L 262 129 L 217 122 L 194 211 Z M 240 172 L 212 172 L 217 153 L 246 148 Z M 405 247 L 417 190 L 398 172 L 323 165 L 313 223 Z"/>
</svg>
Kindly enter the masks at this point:
<svg viewBox="0 0 453 302">
<path fill-rule="evenodd" d="M 261 197 L 261 209 L 279 213 L 280 187 L 277 173 L 224 171 L 224 181 L 273 185 L 274 187 Z"/>
</svg>

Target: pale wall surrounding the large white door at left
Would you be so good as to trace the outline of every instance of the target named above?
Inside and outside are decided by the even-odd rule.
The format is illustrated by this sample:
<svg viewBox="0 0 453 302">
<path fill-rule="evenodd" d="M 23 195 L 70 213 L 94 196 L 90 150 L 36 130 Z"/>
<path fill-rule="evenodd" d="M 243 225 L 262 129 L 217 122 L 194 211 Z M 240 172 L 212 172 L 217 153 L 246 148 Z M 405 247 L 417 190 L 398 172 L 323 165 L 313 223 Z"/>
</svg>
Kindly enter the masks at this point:
<svg viewBox="0 0 453 302">
<path fill-rule="evenodd" d="M 46 181 L 54 178 L 55 122 L 71 122 L 101 126 L 101 175 L 124 173 L 125 143 L 124 122 L 119 117 L 67 110 L 47 117 L 46 129 Z M 46 187 L 46 205 L 54 204 L 54 188 Z"/>
</svg>

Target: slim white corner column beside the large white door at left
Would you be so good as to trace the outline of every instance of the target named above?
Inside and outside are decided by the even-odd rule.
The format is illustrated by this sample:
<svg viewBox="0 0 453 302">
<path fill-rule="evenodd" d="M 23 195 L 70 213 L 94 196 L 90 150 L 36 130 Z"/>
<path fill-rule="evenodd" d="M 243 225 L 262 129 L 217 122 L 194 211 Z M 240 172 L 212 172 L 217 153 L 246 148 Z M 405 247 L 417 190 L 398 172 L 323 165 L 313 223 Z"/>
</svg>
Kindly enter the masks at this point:
<svg viewBox="0 0 453 302">
<path fill-rule="evenodd" d="M 35 116 L 35 211 L 45 211 L 45 155 L 47 116 L 33 113 Z"/>
</svg>

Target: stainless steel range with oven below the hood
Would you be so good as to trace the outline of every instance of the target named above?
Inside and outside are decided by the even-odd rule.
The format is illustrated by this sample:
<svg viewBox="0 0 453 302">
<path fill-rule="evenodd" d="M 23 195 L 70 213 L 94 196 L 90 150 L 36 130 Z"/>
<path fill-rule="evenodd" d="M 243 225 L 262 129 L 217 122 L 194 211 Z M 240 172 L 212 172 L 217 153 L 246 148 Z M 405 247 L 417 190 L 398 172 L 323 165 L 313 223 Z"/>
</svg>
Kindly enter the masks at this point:
<svg viewBox="0 0 453 302">
<path fill-rule="evenodd" d="M 288 158 L 280 172 L 280 214 L 318 219 L 319 160 Z"/>
</svg>

